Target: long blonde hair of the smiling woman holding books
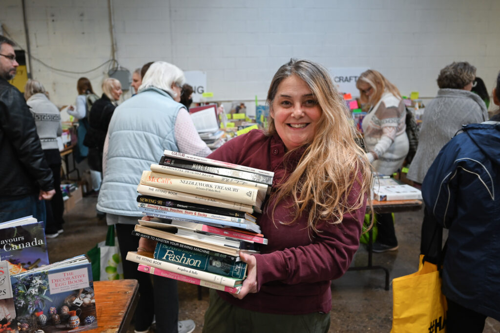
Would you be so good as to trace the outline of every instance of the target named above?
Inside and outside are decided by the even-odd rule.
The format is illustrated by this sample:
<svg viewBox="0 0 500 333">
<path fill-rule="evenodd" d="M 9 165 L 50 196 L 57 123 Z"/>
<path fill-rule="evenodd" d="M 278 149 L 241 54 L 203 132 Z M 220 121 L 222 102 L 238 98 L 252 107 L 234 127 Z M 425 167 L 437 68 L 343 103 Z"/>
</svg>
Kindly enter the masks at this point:
<svg viewBox="0 0 500 333">
<path fill-rule="evenodd" d="M 274 74 L 267 92 L 269 107 L 272 108 L 281 81 L 291 75 L 304 80 L 322 112 L 312 142 L 305 146 L 296 168 L 275 193 L 272 214 L 278 202 L 292 198 L 295 216 L 290 223 L 301 214 L 308 214 L 307 227 L 317 233 L 318 221 L 341 223 L 344 214 L 362 207 L 365 196 L 369 200 L 370 164 L 355 142 L 358 134 L 351 125 L 345 102 L 323 66 L 296 59 L 282 65 Z M 271 118 L 268 134 L 275 133 Z M 355 185 L 359 192 L 353 197 L 351 190 Z"/>
</svg>

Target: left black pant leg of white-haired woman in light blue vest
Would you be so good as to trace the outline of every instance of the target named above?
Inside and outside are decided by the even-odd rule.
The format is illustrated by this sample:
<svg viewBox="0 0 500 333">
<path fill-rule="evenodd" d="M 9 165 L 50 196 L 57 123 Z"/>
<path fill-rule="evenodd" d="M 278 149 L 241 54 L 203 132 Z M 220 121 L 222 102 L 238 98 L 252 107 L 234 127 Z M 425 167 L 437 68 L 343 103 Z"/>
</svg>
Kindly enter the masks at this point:
<svg viewBox="0 0 500 333">
<path fill-rule="evenodd" d="M 139 246 L 139 237 L 132 236 L 133 224 L 116 224 L 116 237 L 120 255 L 123 262 L 123 276 L 125 279 L 135 279 L 139 283 L 139 301 L 135 309 L 135 330 L 145 331 L 151 325 L 154 315 L 154 295 L 163 298 L 161 294 L 153 291 L 151 276 L 147 273 L 137 271 L 137 264 L 125 260 L 128 251 L 137 251 Z M 161 278 L 165 279 L 166 278 Z M 161 314 L 164 316 L 164 314 Z M 158 331 L 160 332 L 160 331 Z"/>
</svg>

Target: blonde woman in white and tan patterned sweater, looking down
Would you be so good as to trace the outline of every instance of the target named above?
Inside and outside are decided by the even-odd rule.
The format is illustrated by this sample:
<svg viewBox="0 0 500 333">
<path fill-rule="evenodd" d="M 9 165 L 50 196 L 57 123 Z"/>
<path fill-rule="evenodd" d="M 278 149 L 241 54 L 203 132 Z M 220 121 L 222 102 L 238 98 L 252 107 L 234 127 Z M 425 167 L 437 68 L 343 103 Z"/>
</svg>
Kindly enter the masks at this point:
<svg viewBox="0 0 500 333">
<path fill-rule="evenodd" d="M 356 82 L 361 103 L 370 108 L 361 124 L 364 145 L 373 169 L 379 174 L 391 175 L 403 164 L 408 154 L 406 109 L 399 90 L 376 70 L 361 73 Z M 392 214 L 376 214 L 378 236 L 373 252 L 397 249 Z"/>
</svg>

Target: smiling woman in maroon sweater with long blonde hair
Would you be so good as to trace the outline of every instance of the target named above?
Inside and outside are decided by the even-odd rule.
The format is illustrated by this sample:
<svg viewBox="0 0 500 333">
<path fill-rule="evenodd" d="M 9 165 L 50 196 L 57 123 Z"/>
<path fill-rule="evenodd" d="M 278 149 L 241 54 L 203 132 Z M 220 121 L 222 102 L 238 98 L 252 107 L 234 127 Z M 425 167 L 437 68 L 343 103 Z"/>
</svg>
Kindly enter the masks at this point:
<svg viewBox="0 0 500 333">
<path fill-rule="evenodd" d="M 268 132 L 237 136 L 209 158 L 274 172 L 257 217 L 268 245 L 248 264 L 240 293 L 210 292 L 203 332 L 328 332 L 330 281 L 359 246 L 369 163 L 327 70 L 291 59 L 271 81 Z M 328 260 L 324 260 L 328 258 Z"/>
</svg>

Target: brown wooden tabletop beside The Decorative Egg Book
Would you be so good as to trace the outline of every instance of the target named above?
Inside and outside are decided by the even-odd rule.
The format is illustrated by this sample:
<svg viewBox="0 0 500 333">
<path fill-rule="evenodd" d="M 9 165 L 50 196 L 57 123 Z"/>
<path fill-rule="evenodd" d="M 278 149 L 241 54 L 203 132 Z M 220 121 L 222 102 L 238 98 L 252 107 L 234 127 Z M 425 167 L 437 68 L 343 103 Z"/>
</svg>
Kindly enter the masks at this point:
<svg viewBox="0 0 500 333">
<path fill-rule="evenodd" d="M 95 281 L 97 328 L 93 333 L 125 333 L 138 300 L 137 280 Z"/>
</svg>

